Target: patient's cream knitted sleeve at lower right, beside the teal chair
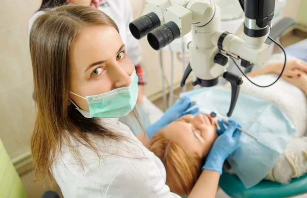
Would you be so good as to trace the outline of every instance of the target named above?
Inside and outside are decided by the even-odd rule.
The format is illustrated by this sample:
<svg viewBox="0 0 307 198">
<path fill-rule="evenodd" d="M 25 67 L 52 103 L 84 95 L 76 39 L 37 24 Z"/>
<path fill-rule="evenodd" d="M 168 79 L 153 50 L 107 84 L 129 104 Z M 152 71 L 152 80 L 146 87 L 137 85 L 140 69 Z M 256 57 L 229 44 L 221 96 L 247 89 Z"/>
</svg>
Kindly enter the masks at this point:
<svg viewBox="0 0 307 198">
<path fill-rule="evenodd" d="M 307 137 L 293 138 L 266 180 L 286 184 L 307 173 Z"/>
</svg>

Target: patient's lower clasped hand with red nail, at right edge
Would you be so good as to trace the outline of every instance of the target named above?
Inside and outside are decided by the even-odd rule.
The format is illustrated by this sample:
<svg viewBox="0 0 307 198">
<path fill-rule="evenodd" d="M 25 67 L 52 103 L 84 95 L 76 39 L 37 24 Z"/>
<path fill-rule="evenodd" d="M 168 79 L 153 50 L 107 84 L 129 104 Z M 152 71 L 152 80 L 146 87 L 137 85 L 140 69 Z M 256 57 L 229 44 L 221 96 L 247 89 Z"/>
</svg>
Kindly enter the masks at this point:
<svg viewBox="0 0 307 198">
<path fill-rule="evenodd" d="M 291 84 L 297 86 L 301 89 L 307 96 L 307 74 L 298 69 L 293 70 L 294 76 L 282 75 L 281 77 L 290 82 Z"/>
</svg>

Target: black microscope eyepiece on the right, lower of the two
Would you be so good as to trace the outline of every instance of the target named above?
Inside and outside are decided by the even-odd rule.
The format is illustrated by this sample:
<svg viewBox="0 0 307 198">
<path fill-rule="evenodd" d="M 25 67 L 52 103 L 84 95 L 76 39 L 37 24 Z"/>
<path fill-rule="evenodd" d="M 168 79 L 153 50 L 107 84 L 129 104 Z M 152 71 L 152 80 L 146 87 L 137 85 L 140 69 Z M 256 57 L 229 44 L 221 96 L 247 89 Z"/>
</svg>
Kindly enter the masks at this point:
<svg viewBox="0 0 307 198">
<path fill-rule="evenodd" d="M 180 29 L 173 21 L 169 21 L 147 34 L 151 48 L 160 50 L 180 36 Z"/>
</svg>

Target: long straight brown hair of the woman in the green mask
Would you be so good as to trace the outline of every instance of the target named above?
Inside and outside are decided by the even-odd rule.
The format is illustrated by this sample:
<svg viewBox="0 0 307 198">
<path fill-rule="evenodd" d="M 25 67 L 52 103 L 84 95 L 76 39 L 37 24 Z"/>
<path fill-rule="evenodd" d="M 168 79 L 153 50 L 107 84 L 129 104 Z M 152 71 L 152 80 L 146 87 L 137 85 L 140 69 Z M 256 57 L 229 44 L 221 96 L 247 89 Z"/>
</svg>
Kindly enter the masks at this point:
<svg viewBox="0 0 307 198">
<path fill-rule="evenodd" d="M 46 174 L 51 179 L 50 167 L 63 141 L 72 147 L 77 157 L 70 138 L 95 151 L 89 134 L 115 141 L 124 139 L 101 126 L 98 119 L 83 117 L 69 102 L 70 51 L 82 28 L 97 25 L 111 26 L 118 31 L 110 17 L 88 6 L 56 8 L 40 15 L 31 28 L 30 53 L 37 108 L 31 150 L 37 180 Z"/>
</svg>

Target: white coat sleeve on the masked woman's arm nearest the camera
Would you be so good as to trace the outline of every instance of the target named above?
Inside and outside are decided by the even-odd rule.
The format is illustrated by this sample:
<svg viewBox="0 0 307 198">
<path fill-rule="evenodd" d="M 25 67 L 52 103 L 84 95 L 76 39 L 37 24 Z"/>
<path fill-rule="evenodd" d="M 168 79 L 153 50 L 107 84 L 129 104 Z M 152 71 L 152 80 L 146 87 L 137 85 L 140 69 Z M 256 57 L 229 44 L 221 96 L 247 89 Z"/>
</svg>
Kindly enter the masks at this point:
<svg viewBox="0 0 307 198">
<path fill-rule="evenodd" d="M 148 159 L 131 159 L 116 172 L 106 197 L 181 198 L 170 192 L 157 164 Z"/>
</svg>

